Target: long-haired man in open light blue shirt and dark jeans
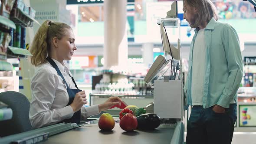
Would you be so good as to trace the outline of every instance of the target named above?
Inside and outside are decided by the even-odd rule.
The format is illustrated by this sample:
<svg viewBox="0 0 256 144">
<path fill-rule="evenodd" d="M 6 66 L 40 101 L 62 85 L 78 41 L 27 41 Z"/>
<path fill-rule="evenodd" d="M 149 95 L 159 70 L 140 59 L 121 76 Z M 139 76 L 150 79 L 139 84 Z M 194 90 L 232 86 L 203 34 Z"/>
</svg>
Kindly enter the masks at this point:
<svg viewBox="0 0 256 144">
<path fill-rule="evenodd" d="M 236 92 L 243 62 L 236 30 L 218 22 L 210 0 L 183 0 L 184 19 L 195 29 L 184 90 L 192 111 L 187 144 L 231 144 Z"/>
</svg>

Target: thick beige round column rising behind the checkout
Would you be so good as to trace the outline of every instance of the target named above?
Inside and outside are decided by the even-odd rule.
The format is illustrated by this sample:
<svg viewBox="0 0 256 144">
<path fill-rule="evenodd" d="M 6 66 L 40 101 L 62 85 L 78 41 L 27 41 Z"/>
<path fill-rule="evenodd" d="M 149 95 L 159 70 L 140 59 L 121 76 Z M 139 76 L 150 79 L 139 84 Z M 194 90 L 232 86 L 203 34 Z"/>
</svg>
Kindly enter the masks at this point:
<svg viewBox="0 0 256 144">
<path fill-rule="evenodd" d="M 127 1 L 104 0 L 104 59 L 105 69 L 125 68 L 128 62 Z"/>
</svg>

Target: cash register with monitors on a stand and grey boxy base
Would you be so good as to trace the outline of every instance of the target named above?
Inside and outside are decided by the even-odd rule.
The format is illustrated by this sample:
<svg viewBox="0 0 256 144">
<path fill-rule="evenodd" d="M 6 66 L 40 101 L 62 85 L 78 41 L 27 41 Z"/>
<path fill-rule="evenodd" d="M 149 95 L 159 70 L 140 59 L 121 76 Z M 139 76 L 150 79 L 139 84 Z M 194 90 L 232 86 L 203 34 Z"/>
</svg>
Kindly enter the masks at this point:
<svg viewBox="0 0 256 144">
<path fill-rule="evenodd" d="M 166 18 L 158 19 L 164 56 L 159 55 L 151 65 L 144 82 L 151 86 L 154 101 L 146 106 L 146 112 L 161 119 L 182 121 L 184 116 L 184 92 L 182 62 L 180 56 L 180 19 L 177 18 L 177 1 L 172 3 Z M 167 28 L 177 34 L 168 37 Z M 177 47 L 169 39 L 177 41 Z"/>
</svg>

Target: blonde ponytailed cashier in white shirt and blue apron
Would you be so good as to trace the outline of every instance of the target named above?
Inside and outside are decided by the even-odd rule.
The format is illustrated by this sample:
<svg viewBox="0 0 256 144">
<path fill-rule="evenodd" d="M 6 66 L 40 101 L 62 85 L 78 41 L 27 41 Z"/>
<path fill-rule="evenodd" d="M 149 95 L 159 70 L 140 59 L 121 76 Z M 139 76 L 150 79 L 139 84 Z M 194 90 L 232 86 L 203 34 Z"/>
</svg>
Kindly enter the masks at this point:
<svg viewBox="0 0 256 144">
<path fill-rule="evenodd" d="M 85 92 L 79 90 L 63 62 L 76 50 L 75 36 L 70 26 L 47 20 L 39 27 L 30 52 L 36 72 L 31 81 L 32 101 L 30 123 L 40 128 L 60 122 L 80 123 L 91 115 L 120 105 L 121 99 L 111 97 L 105 103 L 85 108 Z"/>
</svg>

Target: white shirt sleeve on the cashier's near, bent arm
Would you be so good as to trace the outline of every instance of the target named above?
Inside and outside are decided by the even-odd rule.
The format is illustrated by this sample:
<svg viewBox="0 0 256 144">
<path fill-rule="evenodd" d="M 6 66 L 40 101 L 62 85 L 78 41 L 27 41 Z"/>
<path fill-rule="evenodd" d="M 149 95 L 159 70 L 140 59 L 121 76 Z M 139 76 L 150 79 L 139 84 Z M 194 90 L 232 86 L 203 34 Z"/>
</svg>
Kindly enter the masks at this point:
<svg viewBox="0 0 256 144">
<path fill-rule="evenodd" d="M 53 73 L 47 69 L 36 72 L 31 82 L 32 101 L 30 105 L 30 123 L 33 128 L 56 124 L 73 116 L 71 106 L 51 109 L 55 98 L 56 80 Z"/>
</svg>

